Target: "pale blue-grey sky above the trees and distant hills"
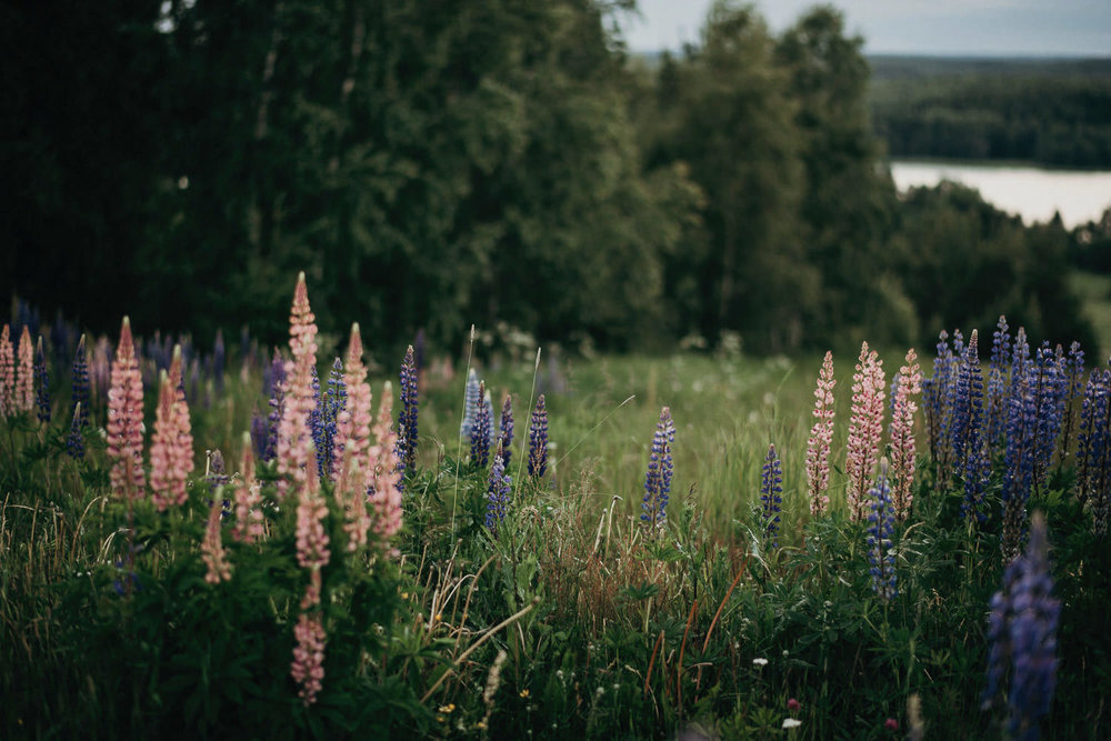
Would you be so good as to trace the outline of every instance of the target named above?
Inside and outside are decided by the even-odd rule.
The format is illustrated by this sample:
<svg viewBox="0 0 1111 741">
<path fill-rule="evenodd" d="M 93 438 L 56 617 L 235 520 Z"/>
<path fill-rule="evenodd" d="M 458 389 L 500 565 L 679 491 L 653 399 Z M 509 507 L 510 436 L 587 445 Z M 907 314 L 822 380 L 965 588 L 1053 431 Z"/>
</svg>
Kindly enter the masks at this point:
<svg viewBox="0 0 1111 741">
<path fill-rule="evenodd" d="M 623 28 L 633 51 L 697 41 L 711 0 L 638 0 Z M 772 31 L 812 0 L 754 3 Z M 840 0 L 850 33 L 871 54 L 1111 57 L 1111 0 Z"/>
</svg>

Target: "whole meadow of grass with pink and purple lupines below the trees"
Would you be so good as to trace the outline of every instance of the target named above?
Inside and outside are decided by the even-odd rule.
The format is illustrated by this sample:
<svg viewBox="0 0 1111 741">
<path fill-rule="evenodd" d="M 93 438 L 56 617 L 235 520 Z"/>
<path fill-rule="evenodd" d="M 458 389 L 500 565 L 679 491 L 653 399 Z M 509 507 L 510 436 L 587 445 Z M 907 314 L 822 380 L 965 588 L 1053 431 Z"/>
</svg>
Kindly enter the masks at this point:
<svg viewBox="0 0 1111 741">
<path fill-rule="evenodd" d="M 277 360 L 4 328 L 3 738 L 1111 729 L 1111 378 L 1078 348 L 964 328 L 921 384 L 884 349 L 831 389 L 735 347 L 371 362 L 320 352 L 304 289 Z"/>
</svg>

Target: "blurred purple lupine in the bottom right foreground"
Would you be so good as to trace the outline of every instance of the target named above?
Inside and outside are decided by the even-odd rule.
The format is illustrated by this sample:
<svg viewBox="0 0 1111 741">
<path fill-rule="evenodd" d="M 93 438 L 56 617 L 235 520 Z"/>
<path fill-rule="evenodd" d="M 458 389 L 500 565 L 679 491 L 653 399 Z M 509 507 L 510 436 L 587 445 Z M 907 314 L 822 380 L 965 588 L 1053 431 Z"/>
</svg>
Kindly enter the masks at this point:
<svg viewBox="0 0 1111 741">
<path fill-rule="evenodd" d="M 1031 520 L 1025 553 L 1011 561 L 1003 589 L 992 597 L 988 624 L 991 650 L 983 707 L 991 707 L 1010 669 L 1008 732 L 1013 738 L 1037 739 L 1038 721 L 1049 714 L 1053 702 L 1061 602 L 1051 597 L 1052 591 L 1045 518 L 1038 512 Z"/>
</svg>

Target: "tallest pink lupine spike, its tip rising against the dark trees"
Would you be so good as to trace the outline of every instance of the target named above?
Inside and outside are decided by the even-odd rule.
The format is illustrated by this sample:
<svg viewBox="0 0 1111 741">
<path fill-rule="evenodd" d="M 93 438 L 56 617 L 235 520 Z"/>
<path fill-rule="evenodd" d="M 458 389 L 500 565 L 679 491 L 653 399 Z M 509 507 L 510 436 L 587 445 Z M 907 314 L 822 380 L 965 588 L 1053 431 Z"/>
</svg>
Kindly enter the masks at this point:
<svg viewBox="0 0 1111 741">
<path fill-rule="evenodd" d="M 278 429 L 278 473 L 290 477 L 294 491 L 306 485 L 307 468 L 312 448 L 309 415 L 316 408 L 312 393 L 312 369 L 317 362 L 316 317 L 309 308 L 309 291 L 304 273 L 297 278 L 293 307 L 289 318 L 289 349 L 293 359 L 286 363 L 287 390 L 281 424 Z M 316 468 L 316 467 L 313 467 Z M 287 494 L 287 481 L 278 482 L 280 495 Z"/>
</svg>

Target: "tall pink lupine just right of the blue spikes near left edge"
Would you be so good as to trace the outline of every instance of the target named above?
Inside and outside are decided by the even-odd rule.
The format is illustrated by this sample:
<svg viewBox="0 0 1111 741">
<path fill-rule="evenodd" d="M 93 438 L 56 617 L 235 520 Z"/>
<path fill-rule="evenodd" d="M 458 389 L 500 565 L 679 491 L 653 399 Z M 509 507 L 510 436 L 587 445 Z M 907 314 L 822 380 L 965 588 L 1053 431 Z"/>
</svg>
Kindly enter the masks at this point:
<svg viewBox="0 0 1111 741">
<path fill-rule="evenodd" d="M 109 480 L 117 494 L 134 499 L 146 483 L 142 470 L 142 374 L 131 338 L 131 320 L 123 318 L 120 343 L 112 361 L 108 389 Z"/>
</svg>

